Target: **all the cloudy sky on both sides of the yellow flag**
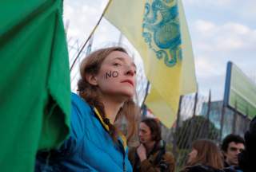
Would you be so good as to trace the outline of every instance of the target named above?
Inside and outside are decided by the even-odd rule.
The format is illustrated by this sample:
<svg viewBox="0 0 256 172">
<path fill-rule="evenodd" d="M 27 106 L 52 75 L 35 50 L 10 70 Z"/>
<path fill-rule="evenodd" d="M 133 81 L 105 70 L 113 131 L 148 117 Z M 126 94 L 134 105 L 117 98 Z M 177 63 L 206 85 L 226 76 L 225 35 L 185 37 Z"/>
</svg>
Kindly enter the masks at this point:
<svg viewBox="0 0 256 172">
<path fill-rule="evenodd" d="M 64 1 L 64 21 L 69 45 L 81 45 L 97 23 L 106 0 Z M 226 62 L 233 61 L 256 80 L 256 1 L 183 0 L 194 49 L 199 93 L 222 100 Z M 129 10 L 126 11 L 129 13 Z M 69 21 L 69 24 L 67 24 Z M 67 27 L 67 26 L 66 26 Z M 94 49 L 117 42 L 118 30 L 102 20 L 94 37 Z M 125 41 L 126 42 L 126 41 Z M 138 62 L 139 63 L 139 62 Z"/>
</svg>

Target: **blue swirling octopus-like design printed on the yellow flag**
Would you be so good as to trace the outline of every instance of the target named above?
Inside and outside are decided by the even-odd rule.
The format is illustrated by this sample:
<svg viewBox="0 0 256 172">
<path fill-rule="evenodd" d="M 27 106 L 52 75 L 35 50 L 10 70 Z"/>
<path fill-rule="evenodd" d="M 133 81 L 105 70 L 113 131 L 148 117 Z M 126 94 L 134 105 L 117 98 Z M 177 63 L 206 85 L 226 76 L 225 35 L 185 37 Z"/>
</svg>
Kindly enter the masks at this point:
<svg viewBox="0 0 256 172">
<path fill-rule="evenodd" d="M 167 67 L 173 67 L 182 60 L 176 0 L 153 0 L 151 4 L 146 2 L 142 30 L 146 44 L 158 59 L 164 58 Z"/>
</svg>

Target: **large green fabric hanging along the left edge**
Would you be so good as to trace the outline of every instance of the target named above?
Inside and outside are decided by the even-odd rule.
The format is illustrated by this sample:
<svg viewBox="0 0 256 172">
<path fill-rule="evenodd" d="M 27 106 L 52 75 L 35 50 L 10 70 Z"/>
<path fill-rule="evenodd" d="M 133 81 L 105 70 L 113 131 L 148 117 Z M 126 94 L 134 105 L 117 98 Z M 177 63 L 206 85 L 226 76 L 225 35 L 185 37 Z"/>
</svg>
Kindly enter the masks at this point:
<svg viewBox="0 0 256 172">
<path fill-rule="evenodd" d="M 0 171 L 34 171 L 70 130 L 61 0 L 0 1 Z"/>
</svg>

